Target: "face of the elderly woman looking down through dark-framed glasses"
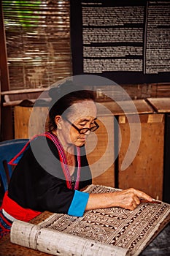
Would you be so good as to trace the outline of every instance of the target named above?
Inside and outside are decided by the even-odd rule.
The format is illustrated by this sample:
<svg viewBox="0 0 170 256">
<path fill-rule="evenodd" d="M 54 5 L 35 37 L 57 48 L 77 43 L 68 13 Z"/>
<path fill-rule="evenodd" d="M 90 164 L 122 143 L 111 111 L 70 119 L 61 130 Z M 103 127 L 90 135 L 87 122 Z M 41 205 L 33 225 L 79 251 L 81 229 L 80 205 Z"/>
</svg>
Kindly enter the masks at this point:
<svg viewBox="0 0 170 256">
<path fill-rule="evenodd" d="M 67 119 L 78 129 L 90 128 L 95 126 L 94 121 L 96 119 L 96 114 L 97 110 L 95 103 L 92 100 L 84 100 L 82 102 L 74 103 L 70 107 Z M 74 146 L 84 145 L 90 131 L 85 134 L 80 134 L 69 121 L 63 118 L 63 125 L 60 131 L 65 143 L 73 144 Z"/>
</svg>

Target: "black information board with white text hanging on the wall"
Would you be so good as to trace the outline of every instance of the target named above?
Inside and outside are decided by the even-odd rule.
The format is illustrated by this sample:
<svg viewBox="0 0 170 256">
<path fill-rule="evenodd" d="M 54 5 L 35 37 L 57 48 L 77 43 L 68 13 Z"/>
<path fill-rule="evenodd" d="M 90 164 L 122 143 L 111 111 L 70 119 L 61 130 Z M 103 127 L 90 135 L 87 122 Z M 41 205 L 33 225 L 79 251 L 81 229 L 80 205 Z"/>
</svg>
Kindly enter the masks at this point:
<svg viewBox="0 0 170 256">
<path fill-rule="evenodd" d="M 73 75 L 170 81 L 170 1 L 72 0 Z"/>
</svg>

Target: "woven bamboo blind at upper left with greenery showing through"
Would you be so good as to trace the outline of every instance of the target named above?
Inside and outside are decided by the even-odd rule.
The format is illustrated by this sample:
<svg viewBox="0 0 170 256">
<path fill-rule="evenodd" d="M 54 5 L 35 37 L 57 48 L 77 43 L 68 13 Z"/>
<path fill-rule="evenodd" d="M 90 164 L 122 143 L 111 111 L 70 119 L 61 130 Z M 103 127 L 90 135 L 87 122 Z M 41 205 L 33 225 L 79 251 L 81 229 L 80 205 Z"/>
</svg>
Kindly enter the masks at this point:
<svg viewBox="0 0 170 256">
<path fill-rule="evenodd" d="M 69 0 L 2 4 L 10 88 L 47 87 L 72 75 Z"/>
</svg>

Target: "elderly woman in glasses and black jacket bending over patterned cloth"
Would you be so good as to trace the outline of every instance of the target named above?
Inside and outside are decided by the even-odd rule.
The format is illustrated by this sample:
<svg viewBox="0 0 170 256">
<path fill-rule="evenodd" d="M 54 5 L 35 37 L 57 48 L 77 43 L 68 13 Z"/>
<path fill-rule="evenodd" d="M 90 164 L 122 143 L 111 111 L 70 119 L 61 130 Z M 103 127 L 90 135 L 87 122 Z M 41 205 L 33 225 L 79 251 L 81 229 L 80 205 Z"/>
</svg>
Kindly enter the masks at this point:
<svg viewBox="0 0 170 256">
<path fill-rule="evenodd" d="M 66 86 L 50 90 L 49 131 L 31 140 L 19 156 L 1 206 L 1 236 L 9 232 L 15 219 L 28 222 L 42 211 L 82 217 L 91 209 L 120 206 L 134 210 L 139 198 L 152 200 L 136 189 L 90 195 L 80 191 L 91 184 L 84 145 L 90 132 L 98 129 L 97 111 L 92 91 L 66 94 L 62 92 Z"/>
</svg>

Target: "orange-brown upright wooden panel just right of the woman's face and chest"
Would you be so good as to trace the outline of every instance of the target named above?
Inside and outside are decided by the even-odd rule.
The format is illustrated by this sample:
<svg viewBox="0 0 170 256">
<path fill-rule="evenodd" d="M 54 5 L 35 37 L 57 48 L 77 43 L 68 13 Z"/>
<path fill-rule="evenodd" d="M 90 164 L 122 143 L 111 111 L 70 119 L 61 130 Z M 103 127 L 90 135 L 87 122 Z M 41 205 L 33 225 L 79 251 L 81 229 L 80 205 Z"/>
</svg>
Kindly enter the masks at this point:
<svg viewBox="0 0 170 256">
<path fill-rule="evenodd" d="M 98 124 L 100 127 L 86 143 L 93 184 L 115 187 L 113 116 L 98 116 Z"/>
</svg>

